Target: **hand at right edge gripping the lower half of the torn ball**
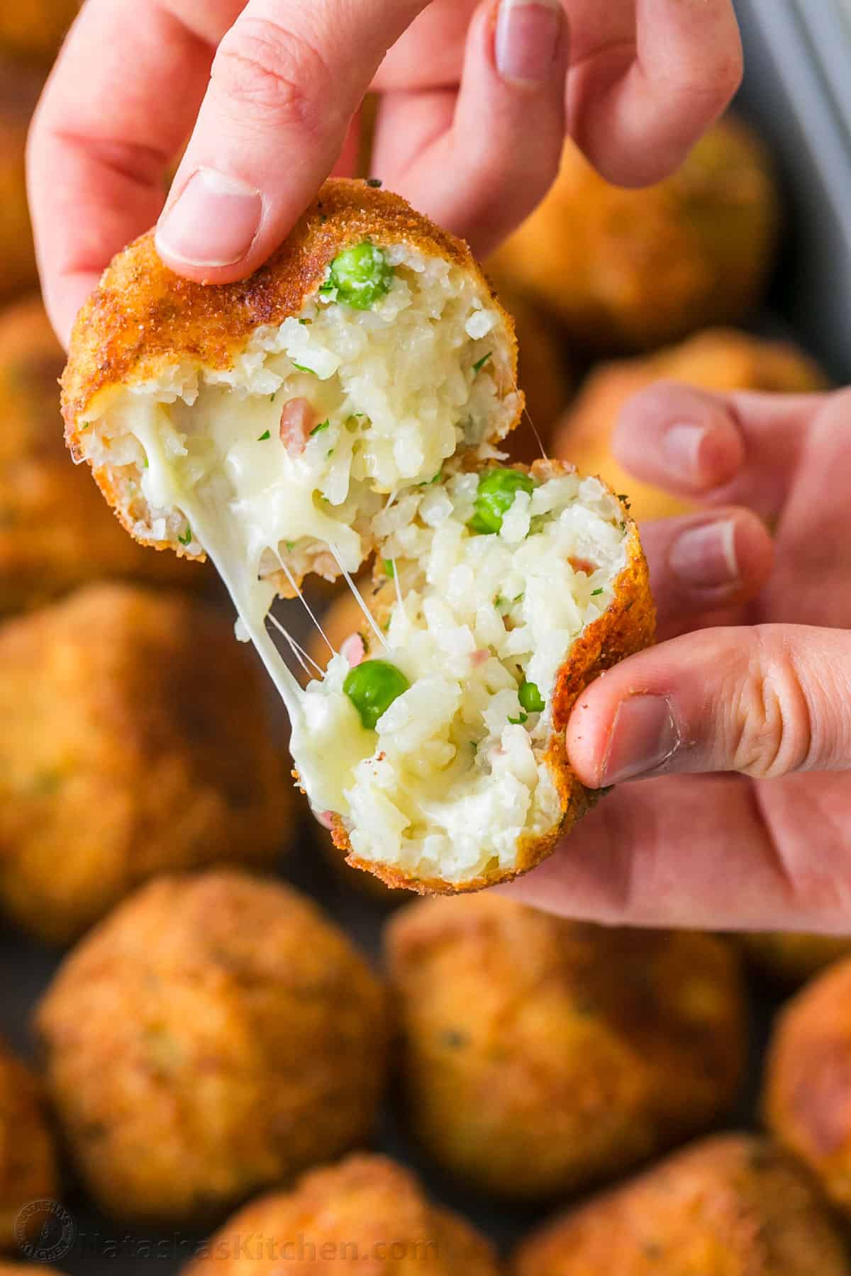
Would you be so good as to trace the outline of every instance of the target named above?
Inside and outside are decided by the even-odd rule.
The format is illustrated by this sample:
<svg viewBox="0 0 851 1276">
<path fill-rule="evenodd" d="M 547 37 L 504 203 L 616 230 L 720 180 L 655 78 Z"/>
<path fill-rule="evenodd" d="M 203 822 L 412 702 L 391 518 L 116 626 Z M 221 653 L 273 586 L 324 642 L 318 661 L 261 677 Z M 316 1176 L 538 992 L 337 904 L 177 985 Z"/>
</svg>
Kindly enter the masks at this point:
<svg viewBox="0 0 851 1276">
<path fill-rule="evenodd" d="M 583 782 L 619 787 L 508 888 L 515 897 L 606 923 L 847 933 L 848 417 L 850 392 L 676 385 L 624 410 L 620 461 L 683 495 L 758 510 L 776 526 L 774 567 L 754 601 L 697 620 L 714 628 L 633 656 L 579 698 L 570 762 Z M 739 541 L 726 544 L 732 554 L 698 544 L 686 574 L 712 577 L 737 558 L 743 575 Z M 697 628 L 652 538 L 648 558 L 667 634 Z M 642 782 L 621 783 L 630 778 Z"/>
</svg>

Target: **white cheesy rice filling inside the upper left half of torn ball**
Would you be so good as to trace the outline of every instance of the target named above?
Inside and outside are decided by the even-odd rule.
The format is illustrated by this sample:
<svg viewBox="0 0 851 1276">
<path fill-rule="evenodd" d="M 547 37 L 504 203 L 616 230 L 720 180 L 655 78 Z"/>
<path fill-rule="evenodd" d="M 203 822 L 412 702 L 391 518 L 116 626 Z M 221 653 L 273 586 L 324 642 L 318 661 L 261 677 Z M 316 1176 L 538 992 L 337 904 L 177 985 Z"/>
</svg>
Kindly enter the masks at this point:
<svg viewBox="0 0 851 1276">
<path fill-rule="evenodd" d="M 190 505 L 227 504 L 253 575 L 283 561 L 333 578 L 362 564 L 392 493 L 427 482 L 461 447 L 492 454 L 486 439 L 518 406 L 499 313 L 449 262 L 402 245 L 384 256 L 394 274 L 371 310 L 316 293 L 258 328 L 232 367 L 174 366 L 91 415 L 82 453 L 129 490 L 139 540 L 198 551 Z M 293 403 L 307 425 L 287 445 Z"/>
</svg>

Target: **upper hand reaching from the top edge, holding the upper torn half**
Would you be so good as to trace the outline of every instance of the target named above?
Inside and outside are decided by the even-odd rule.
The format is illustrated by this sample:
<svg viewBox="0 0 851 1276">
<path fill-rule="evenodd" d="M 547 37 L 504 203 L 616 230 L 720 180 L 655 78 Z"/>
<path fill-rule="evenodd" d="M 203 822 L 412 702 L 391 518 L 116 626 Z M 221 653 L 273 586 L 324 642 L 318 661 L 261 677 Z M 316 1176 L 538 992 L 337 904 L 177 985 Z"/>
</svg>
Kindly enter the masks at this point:
<svg viewBox="0 0 851 1276">
<path fill-rule="evenodd" d="M 66 341 L 157 218 L 177 273 L 249 274 L 332 170 L 353 171 L 370 87 L 375 172 L 485 254 L 546 193 L 565 112 L 605 176 L 640 185 L 740 74 L 731 0 L 85 0 L 29 142 L 48 313 Z"/>
</svg>

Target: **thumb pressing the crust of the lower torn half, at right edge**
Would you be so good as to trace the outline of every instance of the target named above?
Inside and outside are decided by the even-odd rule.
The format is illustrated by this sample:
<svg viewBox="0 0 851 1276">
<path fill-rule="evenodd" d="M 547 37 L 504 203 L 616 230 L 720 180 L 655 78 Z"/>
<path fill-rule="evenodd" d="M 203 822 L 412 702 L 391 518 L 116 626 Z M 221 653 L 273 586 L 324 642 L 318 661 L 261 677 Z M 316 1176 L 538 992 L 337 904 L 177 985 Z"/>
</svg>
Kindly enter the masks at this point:
<svg viewBox="0 0 851 1276">
<path fill-rule="evenodd" d="M 851 634 L 808 625 L 704 629 L 592 683 L 566 734 L 597 789 L 674 772 L 773 778 L 851 767 Z"/>
</svg>

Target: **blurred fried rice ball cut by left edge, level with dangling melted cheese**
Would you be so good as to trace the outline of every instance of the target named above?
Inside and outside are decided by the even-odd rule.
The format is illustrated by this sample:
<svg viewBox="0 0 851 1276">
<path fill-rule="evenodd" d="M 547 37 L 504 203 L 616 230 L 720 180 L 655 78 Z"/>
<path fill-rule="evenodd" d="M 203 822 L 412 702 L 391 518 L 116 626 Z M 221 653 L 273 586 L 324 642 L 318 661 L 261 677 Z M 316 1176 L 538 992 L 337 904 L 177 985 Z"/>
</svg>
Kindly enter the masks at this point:
<svg viewBox="0 0 851 1276">
<path fill-rule="evenodd" d="M 165 869 L 273 864 L 291 781 L 228 616 L 92 584 L 0 627 L 0 906 L 65 943 Z"/>
</svg>

